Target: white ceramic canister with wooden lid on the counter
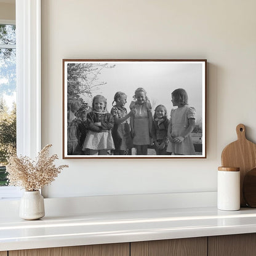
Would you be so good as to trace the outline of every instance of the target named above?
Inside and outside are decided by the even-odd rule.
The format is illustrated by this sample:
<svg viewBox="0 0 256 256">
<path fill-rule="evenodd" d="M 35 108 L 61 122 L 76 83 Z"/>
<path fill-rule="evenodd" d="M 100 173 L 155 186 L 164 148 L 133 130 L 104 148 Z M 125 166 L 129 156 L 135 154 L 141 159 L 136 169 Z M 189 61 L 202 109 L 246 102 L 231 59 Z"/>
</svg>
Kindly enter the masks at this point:
<svg viewBox="0 0 256 256">
<path fill-rule="evenodd" d="M 219 210 L 240 209 L 239 167 L 218 167 L 217 207 Z"/>
</svg>

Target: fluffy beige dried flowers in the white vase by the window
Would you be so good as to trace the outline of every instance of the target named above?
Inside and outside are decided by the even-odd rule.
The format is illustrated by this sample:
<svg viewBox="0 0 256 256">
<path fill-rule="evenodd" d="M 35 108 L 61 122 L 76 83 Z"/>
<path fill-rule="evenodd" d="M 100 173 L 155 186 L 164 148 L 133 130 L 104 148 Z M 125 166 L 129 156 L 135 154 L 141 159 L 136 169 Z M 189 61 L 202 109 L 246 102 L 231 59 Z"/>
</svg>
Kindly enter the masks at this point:
<svg viewBox="0 0 256 256">
<path fill-rule="evenodd" d="M 44 185 L 53 182 L 61 170 L 68 166 L 56 167 L 54 165 L 58 156 L 57 154 L 48 156 L 51 146 L 50 144 L 44 146 L 38 153 L 36 161 L 28 158 L 28 156 L 18 157 L 17 154 L 9 156 L 6 166 L 9 186 L 20 186 L 25 191 L 37 191 Z"/>
</svg>

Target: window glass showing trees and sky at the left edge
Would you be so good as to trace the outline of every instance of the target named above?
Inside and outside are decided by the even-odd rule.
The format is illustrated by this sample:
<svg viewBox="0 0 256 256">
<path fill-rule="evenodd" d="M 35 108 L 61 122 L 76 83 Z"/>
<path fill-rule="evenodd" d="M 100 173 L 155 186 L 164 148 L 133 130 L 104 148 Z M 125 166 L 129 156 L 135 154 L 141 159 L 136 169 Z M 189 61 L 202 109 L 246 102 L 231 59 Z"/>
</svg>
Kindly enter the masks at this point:
<svg viewBox="0 0 256 256">
<path fill-rule="evenodd" d="M 16 150 L 15 37 L 15 25 L 0 24 L 0 186 L 7 185 L 7 153 Z"/>
</svg>

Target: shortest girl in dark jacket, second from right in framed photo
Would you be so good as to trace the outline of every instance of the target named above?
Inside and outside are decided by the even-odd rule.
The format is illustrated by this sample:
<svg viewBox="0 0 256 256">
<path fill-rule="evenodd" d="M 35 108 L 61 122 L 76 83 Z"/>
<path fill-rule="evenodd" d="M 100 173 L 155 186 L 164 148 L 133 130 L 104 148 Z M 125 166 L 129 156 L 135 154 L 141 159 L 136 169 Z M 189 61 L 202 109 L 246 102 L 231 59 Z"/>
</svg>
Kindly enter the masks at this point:
<svg viewBox="0 0 256 256">
<path fill-rule="evenodd" d="M 169 142 L 167 136 L 169 122 L 166 107 L 164 105 L 158 105 L 154 110 L 152 124 L 152 138 L 157 155 L 170 154 L 166 152 Z"/>
</svg>

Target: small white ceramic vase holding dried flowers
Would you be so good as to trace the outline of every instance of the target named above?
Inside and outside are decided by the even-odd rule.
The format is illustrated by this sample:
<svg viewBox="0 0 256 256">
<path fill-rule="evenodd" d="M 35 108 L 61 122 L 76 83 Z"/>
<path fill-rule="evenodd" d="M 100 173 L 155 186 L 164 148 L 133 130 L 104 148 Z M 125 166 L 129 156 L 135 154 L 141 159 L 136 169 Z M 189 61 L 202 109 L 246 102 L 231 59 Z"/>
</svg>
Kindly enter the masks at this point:
<svg viewBox="0 0 256 256">
<path fill-rule="evenodd" d="M 20 200 L 20 218 L 38 220 L 44 217 L 44 198 L 39 191 L 25 191 Z"/>
</svg>

